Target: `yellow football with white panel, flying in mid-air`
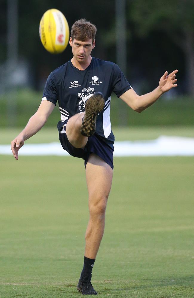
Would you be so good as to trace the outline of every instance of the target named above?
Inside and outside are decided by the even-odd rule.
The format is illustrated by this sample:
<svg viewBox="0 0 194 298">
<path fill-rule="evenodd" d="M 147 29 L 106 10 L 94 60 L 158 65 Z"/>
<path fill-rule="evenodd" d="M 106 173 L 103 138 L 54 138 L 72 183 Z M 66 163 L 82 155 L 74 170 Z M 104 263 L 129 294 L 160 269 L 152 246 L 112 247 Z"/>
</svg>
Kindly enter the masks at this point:
<svg viewBox="0 0 194 298">
<path fill-rule="evenodd" d="M 52 8 L 44 13 L 40 21 L 39 35 L 48 52 L 59 54 L 64 51 L 69 42 L 69 26 L 61 11 Z"/>
</svg>

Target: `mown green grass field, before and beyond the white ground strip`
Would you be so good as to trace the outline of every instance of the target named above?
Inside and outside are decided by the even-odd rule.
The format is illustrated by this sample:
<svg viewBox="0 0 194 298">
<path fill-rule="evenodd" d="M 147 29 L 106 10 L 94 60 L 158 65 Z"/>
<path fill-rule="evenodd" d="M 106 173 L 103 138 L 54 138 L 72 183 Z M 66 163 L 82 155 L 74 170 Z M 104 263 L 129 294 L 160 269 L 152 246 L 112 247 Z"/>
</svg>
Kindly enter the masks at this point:
<svg viewBox="0 0 194 298">
<path fill-rule="evenodd" d="M 161 130 L 115 134 L 150 139 Z M 56 140 L 53 131 L 43 132 L 31 142 Z M 15 133 L 1 131 L 1 143 Z M 76 283 L 89 217 L 83 161 L 0 156 L 0 164 L 0 297 L 81 297 Z M 115 158 L 114 165 L 93 268 L 98 297 L 193 297 L 193 157 Z"/>
</svg>

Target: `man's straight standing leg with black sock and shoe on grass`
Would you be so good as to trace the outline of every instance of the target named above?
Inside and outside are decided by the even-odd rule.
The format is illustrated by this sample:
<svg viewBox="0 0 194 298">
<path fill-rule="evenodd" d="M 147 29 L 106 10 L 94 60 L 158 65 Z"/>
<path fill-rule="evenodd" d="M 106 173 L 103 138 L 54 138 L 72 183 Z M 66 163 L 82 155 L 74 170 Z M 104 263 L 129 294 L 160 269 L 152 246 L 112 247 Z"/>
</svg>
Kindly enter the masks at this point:
<svg viewBox="0 0 194 298">
<path fill-rule="evenodd" d="M 90 282 L 92 268 L 104 233 L 105 211 L 112 184 L 113 170 L 96 154 L 91 154 L 86 165 L 90 219 L 86 230 L 84 267 L 77 286 L 85 295 L 96 295 Z"/>
</svg>

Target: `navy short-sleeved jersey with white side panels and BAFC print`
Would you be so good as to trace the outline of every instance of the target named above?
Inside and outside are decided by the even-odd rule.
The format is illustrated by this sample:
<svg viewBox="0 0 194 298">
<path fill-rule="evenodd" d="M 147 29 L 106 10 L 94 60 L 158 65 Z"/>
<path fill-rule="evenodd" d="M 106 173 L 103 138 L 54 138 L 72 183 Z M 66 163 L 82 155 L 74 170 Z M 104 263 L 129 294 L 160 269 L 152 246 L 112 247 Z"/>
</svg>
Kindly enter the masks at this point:
<svg viewBox="0 0 194 298">
<path fill-rule="evenodd" d="M 51 72 L 44 87 L 42 100 L 51 101 L 55 105 L 58 100 L 62 127 L 66 119 L 84 112 L 86 100 L 90 96 L 97 91 L 102 92 L 105 105 L 104 111 L 97 116 L 96 134 L 112 147 L 114 135 L 110 124 L 111 93 L 114 91 L 119 97 L 130 88 L 124 74 L 115 63 L 92 57 L 85 70 L 77 69 L 68 61 Z"/>
</svg>

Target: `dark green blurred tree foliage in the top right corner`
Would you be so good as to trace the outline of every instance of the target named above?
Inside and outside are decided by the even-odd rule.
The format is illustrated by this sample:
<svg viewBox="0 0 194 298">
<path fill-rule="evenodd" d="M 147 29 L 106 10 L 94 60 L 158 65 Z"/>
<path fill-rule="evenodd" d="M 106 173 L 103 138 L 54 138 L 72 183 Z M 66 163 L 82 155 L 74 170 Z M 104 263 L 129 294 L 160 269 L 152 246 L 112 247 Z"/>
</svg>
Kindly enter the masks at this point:
<svg viewBox="0 0 194 298">
<path fill-rule="evenodd" d="M 182 49 L 187 93 L 194 96 L 194 1 L 133 0 L 130 4 L 129 17 L 140 37 L 165 32 Z M 168 44 L 164 45 L 164 50 L 168 52 Z M 169 52 L 170 55 L 173 52 Z"/>
</svg>

